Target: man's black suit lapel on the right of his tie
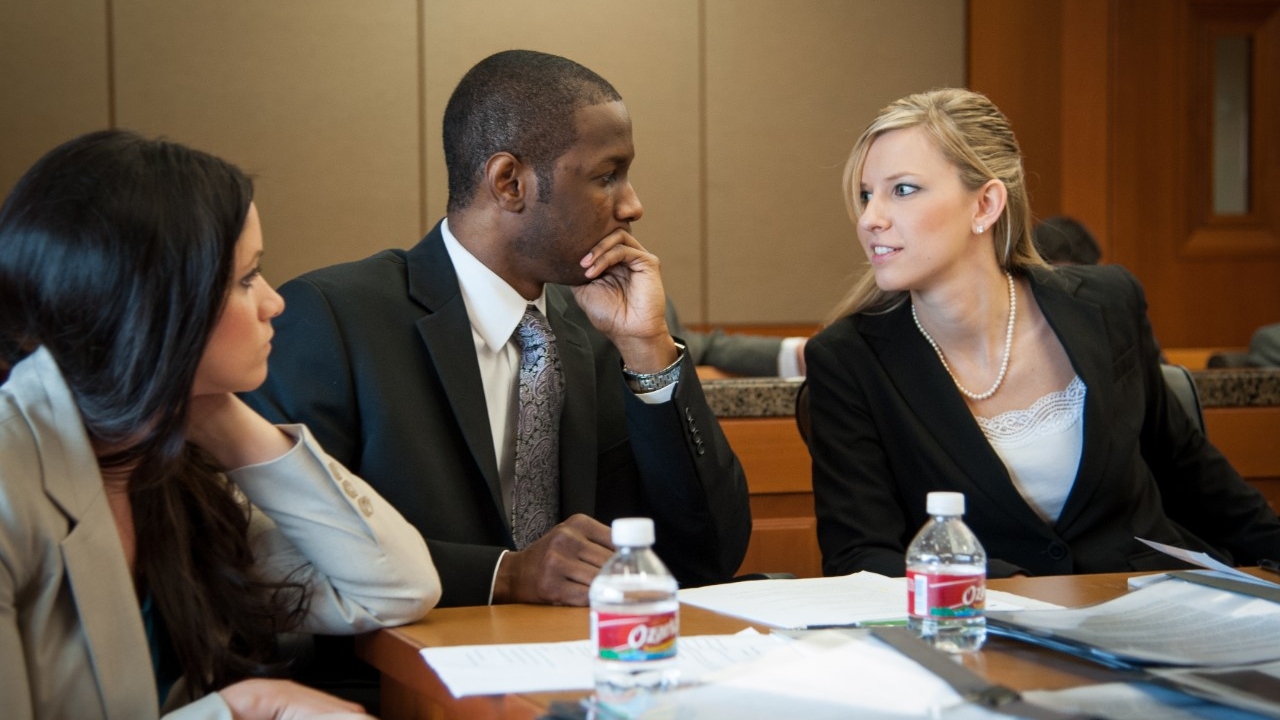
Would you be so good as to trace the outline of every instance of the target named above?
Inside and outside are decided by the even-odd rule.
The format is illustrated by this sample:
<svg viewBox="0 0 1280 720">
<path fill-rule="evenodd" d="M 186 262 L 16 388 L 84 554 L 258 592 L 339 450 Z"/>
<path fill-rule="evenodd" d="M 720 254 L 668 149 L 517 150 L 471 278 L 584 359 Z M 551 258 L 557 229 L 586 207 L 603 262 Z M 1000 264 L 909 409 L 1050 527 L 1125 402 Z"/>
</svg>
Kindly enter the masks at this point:
<svg viewBox="0 0 1280 720">
<path fill-rule="evenodd" d="M 561 415 L 561 515 L 595 512 L 595 364 L 586 331 L 570 322 L 570 291 L 547 287 L 547 319 L 564 372 Z"/>
</svg>

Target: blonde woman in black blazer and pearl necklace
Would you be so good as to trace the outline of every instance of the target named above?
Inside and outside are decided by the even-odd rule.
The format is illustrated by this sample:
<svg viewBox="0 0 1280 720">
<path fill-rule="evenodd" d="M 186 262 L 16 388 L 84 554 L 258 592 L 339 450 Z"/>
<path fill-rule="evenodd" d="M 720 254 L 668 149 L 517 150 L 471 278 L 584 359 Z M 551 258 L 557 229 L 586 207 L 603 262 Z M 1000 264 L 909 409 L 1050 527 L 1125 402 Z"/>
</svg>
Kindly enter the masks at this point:
<svg viewBox="0 0 1280 720">
<path fill-rule="evenodd" d="M 983 95 L 896 100 L 845 167 L 870 270 L 806 346 L 828 575 L 902 575 L 925 496 L 966 496 L 992 577 L 1256 564 L 1280 520 L 1165 386 L 1138 282 L 1036 252 L 1021 152 Z"/>
</svg>

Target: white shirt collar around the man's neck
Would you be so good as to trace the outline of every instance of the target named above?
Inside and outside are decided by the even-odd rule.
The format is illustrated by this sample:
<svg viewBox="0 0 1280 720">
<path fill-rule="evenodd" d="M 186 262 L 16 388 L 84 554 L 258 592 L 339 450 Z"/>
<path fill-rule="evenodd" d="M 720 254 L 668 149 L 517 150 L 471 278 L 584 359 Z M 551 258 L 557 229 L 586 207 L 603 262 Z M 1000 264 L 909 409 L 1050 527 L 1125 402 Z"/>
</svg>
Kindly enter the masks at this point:
<svg viewBox="0 0 1280 720">
<path fill-rule="evenodd" d="M 507 284 L 507 281 L 498 277 L 458 242 L 449 229 L 448 218 L 440 223 L 440 234 L 444 237 L 449 260 L 453 261 L 453 272 L 458 275 L 467 318 L 489 350 L 497 352 L 507 345 L 529 305 L 536 306 L 543 315 L 547 314 L 545 286 L 536 300 L 525 300 L 516 288 Z"/>
</svg>

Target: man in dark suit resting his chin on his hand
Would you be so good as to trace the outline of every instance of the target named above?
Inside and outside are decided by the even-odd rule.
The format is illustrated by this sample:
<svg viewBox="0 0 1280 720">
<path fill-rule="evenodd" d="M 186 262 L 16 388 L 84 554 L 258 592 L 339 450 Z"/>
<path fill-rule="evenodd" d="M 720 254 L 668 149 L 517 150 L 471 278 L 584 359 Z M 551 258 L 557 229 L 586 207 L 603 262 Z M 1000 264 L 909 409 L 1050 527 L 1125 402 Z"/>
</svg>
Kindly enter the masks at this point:
<svg viewBox="0 0 1280 720">
<path fill-rule="evenodd" d="M 411 250 L 280 288 L 251 404 L 306 423 L 426 537 L 440 605 L 585 605 L 605 523 L 646 515 L 682 585 L 730 579 L 751 520 L 737 457 L 663 319 L 658 259 L 631 234 L 631 120 L 563 58 L 480 61 L 444 113 L 448 215 Z M 529 307 L 536 309 L 529 310 Z M 544 315 L 563 375 L 558 491 L 516 541 L 521 318 Z"/>
</svg>

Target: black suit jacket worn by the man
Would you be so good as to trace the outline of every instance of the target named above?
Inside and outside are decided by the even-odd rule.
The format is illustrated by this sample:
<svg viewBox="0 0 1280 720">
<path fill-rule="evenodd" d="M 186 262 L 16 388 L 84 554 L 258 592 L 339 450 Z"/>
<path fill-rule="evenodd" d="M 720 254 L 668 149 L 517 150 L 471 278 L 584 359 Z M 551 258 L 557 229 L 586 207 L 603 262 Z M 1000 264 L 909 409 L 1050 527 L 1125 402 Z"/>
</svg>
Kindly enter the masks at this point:
<svg viewBox="0 0 1280 720">
<path fill-rule="evenodd" d="M 285 283 L 266 383 L 269 419 L 306 423 L 324 448 L 419 528 L 440 605 L 488 602 L 513 548 L 471 324 L 436 225 L 408 251 Z M 655 551 L 685 587 L 731 578 L 751 532 L 746 480 L 686 363 L 671 402 L 626 387 L 617 350 L 568 288 L 548 286 L 564 370 L 561 512 L 652 516 Z"/>
</svg>

